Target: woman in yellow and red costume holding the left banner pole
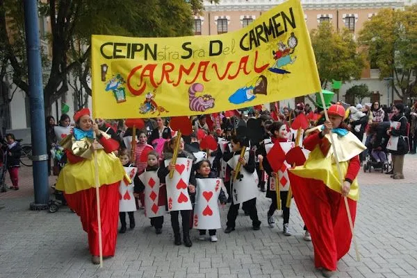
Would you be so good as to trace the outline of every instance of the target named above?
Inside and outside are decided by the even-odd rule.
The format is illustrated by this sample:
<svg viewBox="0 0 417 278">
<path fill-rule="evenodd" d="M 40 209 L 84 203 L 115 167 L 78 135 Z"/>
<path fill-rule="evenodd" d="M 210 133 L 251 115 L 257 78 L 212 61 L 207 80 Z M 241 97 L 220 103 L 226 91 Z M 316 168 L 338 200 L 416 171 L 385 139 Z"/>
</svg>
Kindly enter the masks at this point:
<svg viewBox="0 0 417 278">
<path fill-rule="evenodd" d="M 61 141 L 68 163 L 65 164 L 56 189 L 64 191 L 68 206 L 81 217 L 88 233 L 92 263 L 99 261 L 99 231 L 95 189 L 95 155 L 99 164 L 99 194 L 103 256 L 115 254 L 119 216 L 119 184 L 125 172 L 120 160 L 112 153 L 119 148 L 117 141 L 101 132 L 90 118 L 88 109 L 74 114 L 74 133 Z M 97 137 L 97 141 L 94 137 Z"/>
</svg>

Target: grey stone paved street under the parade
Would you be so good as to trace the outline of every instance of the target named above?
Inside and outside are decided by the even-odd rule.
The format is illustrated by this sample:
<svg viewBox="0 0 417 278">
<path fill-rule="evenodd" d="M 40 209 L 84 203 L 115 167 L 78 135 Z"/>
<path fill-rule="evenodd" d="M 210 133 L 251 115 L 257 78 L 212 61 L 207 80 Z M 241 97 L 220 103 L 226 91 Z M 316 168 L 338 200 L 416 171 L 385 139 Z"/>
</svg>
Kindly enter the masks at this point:
<svg viewBox="0 0 417 278">
<path fill-rule="evenodd" d="M 352 245 L 334 277 L 417 277 L 417 156 L 407 155 L 404 164 L 405 180 L 361 171 L 355 229 L 361 261 L 355 261 Z M 191 248 L 174 246 L 169 214 L 163 234 L 156 235 L 144 212 L 136 211 L 136 228 L 118 236 L 115 257 L 99 269 L 90 262 L 79 218 L 67 207 L 55 214 L 28 210 L 31 168 L 23 167 L 20 177 L 19 191 L 0 193 L 6 205 L 0 210 L 0 277 L 322 277 L 313 266 L 311 243 L 302 238 L 297 208 L 291 208 L 293 236 L 284 236 L 279 213 L 277 227 L 267 225 L 270 200 L 263 193 L 257 202 L 260 231 L 240 211 L 236 232 L 218 230 L 218 243 L 210 243 L 199 242 L 193 230 Z M 50 177 L 51 184 L 55 179 Z M 226 214 L 224 207 L 223 226 Z"/>
</svg>

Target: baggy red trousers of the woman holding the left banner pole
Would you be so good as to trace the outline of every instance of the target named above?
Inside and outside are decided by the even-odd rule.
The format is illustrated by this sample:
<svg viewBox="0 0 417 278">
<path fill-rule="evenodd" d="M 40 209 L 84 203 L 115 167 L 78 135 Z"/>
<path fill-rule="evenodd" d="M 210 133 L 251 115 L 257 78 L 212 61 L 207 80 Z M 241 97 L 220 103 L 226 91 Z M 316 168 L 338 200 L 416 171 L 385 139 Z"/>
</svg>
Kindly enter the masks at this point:
<svg viewBox="0 0 417 278">
<path fill-rule="evenodd" d="M 119 221 L 119 182 L 102 185 L 100 194 L 101 241 L 103 256 L 114 256 Z M 90 188 L 65 194 L 68 206 L 81 218 L 83 230 L 88 234 L 88 246 L 93 256 L 99 256 L 99 224 L 97 219 L 96 189 Z"/>
</svg>

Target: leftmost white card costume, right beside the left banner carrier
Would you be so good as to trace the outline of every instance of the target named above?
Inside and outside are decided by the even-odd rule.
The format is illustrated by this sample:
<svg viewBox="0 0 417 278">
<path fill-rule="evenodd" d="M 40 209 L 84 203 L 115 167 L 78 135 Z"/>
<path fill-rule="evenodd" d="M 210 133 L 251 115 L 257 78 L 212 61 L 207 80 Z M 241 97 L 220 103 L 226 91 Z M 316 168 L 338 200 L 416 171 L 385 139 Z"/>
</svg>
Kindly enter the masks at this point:
<svg viewBox="0 0 417 278">
<path fill-rule="evenodd" d="M 119 186 L 119 211 L 136 211 L 135 197 L 133 196 L 133 178 L 135 177 L 138 168 L 136 167 L 123 167 L 126 175 L 130 177 L 129 181 L 124 178 L 120 182 Z"/>
</svg>

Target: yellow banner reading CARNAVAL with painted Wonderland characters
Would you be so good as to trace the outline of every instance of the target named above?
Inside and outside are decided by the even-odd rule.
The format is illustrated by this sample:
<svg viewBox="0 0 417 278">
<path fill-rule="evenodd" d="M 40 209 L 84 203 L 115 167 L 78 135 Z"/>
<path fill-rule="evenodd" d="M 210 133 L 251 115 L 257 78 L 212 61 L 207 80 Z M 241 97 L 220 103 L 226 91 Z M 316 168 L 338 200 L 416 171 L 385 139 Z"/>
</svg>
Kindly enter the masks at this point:
<svg viewBox="0 0 417 278">
<path fill-rule="evenodd" d="M 208 114 L 319 91 L 300 0 L 222 35 L 92 36 L 95 118 Z"/>
</svg>

